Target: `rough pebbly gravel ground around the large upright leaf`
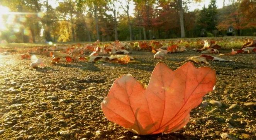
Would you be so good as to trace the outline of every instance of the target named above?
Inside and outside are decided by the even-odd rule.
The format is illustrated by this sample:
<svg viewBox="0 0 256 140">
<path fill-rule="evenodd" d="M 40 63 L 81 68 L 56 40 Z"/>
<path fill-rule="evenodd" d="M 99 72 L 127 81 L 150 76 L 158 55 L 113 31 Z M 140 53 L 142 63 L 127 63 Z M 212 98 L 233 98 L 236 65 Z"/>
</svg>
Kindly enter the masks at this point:
<svg viewBox="0 0 256 140">
<path fill-rule="evenodd" d="M 20 55 L 0 55 L 0 139 L 256 139 L 255 53 L 221 56 L 233 62 L 195 64 L 216 70 L 216 88 L 191 111 L 190 122 L 177 132 L 139 136 L 109 122 L 100 101 L 87 96 L 106 97 L 114 80 L 127 73 L 148 83 L 160 61 L 153 55 L 133 51 L 131 56 L 136 60 L 127 65 L 101 61 L 50 65 L 50 57 L 38 55 L 46 67 L 37 69 Z M 163 62 L 175 70 L 182 65 L 176 63 L 193 55 L 200 53 L 172 53 Z"/>
</svg>

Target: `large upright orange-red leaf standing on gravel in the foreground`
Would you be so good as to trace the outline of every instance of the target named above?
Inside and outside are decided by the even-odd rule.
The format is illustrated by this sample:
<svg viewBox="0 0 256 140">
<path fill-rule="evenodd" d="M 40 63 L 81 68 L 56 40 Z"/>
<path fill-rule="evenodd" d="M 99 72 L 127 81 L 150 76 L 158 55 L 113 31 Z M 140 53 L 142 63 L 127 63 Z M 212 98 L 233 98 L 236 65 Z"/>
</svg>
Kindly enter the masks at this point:
<svg viewBox="0 0 256 140">
<path fill-rule="evenodd" d="M 173 71 L 158 63 L 146 89 L 130 74 L 117 78 L 102 111 L 108 120 L 138 135 L 175 132 L 188 123 L 190 111 L 215 82 L 215 70 L 209 67 L 188 62 Z"/>
</svg>

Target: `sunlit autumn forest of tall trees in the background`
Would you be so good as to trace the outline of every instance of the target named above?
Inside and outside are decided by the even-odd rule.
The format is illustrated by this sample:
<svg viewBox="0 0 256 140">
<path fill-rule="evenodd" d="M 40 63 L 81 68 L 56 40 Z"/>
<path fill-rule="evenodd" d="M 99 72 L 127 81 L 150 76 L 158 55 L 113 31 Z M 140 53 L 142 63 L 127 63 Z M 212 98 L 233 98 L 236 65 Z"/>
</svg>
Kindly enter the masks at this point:
<svg viewBox="0 0 256 140">
<path fill-rule="evenodd" d="M 255 0 L 189 11 L 198 0 L 1 0 L 2 43 L 91 42 L 256 35 Z M 200 0 L 199 0 L 200 1 Z M 129 5 L 134 3 L 134 14 Z M 119 6 L 120 5 L 120 6 Z M 124 12 L 120 12 L 120 9 Z M 12 14 L 15 13 L 15 14 Z M 232 29 L 230 29 L 232 28 Z"/>
</svg>

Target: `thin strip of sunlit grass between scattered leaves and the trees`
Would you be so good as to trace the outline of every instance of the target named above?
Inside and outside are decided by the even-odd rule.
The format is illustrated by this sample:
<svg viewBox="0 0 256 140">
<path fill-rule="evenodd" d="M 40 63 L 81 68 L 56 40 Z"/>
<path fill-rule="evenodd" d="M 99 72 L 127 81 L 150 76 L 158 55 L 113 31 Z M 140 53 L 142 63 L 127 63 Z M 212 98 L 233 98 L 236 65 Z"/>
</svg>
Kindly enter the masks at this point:
<svg viewBox="0 0 256 140">
<path fill-rule="evenodd" d="M 155 40 L 159 42 L 170 42 L 170 41 L 178 41 L 184 40 L 185 42 L 179 42 L 178 45 L 188 45 L 189 47 L 200 48 L 196 43 L 198 40 L 217 40 L 217 44 L 222 46 L 222 48 L 241 48 L 241 45 L 247 39 L 256 39 L 256 36 L 239 36 L 239 37 L 199 37 L 199 38 L 171 38 L 171 39 L 161 39 Z M 151 40 L 133 40 L 133 41 L 123 41 L 123 42 L 138 42 L 138 41 L 151 41 Z M 112 42 L 112 41 L 111 41 Z M 55 43 L 57 46 L 61 45 L 75 45 L 77 43 L 86 44 L 92 42 L 57 42 Z M 110 42 L 101 42 L 102 44 L 110 43 Z M 39 46 L 52 46 L 48 43 L 0 43 L 0 48 L 27 48 L 27 47 L 39 47 Z"/>
</svg>

